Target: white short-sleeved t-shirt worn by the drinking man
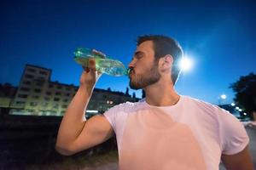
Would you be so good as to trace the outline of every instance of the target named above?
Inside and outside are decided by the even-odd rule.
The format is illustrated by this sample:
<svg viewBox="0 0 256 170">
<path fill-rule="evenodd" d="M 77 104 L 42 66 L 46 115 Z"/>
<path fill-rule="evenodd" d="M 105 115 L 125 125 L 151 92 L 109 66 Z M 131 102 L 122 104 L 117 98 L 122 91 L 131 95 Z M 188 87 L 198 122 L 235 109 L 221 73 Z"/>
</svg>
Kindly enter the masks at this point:
<svg viewBox="0 0 256 170">
<path fill-rule="evenodd" d="M 217 170 L 221 154 L 249 142 L 230 112 L 188 96 L 163 107 L 126 102 L 104 116 L 116 134 L 120 170 Z"/>
</svg>

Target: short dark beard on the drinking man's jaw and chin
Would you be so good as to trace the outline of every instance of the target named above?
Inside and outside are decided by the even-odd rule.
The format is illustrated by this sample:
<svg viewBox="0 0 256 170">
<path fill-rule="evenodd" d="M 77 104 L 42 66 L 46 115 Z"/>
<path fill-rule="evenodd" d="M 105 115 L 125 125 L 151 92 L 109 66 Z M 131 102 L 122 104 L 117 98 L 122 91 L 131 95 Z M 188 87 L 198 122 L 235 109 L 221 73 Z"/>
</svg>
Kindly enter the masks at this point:
<svg viewBox="0 0 256 170">
<path fill-rule="evenodd" d="M 131 70 L 130 72 L 130 88 L 131 89 L 140 89 L 145 88 L 155 82 L 160 80 L 160 73 L 158 71 L 158 66 L 153 65 L 149 71 L 145 71 L 143 74 L 135 74 L 135 71 Z"/>
</svg>

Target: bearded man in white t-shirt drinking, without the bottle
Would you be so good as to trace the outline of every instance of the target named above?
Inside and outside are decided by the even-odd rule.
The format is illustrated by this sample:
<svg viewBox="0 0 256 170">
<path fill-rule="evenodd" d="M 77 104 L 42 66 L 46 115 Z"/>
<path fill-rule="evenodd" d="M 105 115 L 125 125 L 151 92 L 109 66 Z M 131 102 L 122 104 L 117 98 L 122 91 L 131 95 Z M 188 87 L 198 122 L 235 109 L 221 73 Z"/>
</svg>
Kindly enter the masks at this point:
<svg viewBox="0 0 256 170">
<path fill-rule="evenodd" d="M 241 123 L 217 106 L 174 90 L 182 57 L 182 48 L 170 37 L 138 37 L 129 65 L 130 86 L 143 88 L 146 98 L 114 106 L 86 121 L 84 109 L 101 76 L 91 59 L 63 116 L 56 150 L 72 155 L 115 133 L 121 170 L 218 169 L 220 160 L 228 169 L 253 169 Z"/>
</svg>

